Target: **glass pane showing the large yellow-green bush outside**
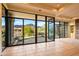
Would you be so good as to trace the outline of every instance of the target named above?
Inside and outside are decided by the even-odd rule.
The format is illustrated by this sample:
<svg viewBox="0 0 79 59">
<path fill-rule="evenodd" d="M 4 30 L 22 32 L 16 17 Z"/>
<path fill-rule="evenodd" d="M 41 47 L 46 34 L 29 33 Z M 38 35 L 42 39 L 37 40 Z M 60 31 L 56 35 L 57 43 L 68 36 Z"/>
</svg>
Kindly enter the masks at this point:
<svg viewBox="0 0 79 59">
<path fill-rule="evenodd" d="M 35 21 L 24 20 L 24 44 L 35 43 Z"/>
</svg>

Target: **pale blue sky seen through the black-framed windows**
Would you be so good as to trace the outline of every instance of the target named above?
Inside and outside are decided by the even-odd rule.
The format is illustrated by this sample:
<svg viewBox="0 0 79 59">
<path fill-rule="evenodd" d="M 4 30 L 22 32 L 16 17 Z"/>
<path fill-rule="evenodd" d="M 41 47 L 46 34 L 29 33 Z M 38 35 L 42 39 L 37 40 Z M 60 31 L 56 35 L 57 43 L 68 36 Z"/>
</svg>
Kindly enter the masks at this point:
<svg viewBox="0 0 79 59">
<path fill-rule="evenodd" d="M 23 24 L 22 20 L 15 19 L 14 25 L 22 25 L 22 24 Z M 24 20 L 24 25 L 26 25 L 26 24 L 33 24 L 33 25 L 35 25 L 35 21 L 33 21 L 33 20 Z M 37 26 L 44 26 L 44 24 L 45 24 L 45 22 L 42 22 L 42 21 L 38 21 L 37 22 Z M 4 18 L 2 18 L 2 26 L 3 25 L 5 25 Z"/>
</svg>

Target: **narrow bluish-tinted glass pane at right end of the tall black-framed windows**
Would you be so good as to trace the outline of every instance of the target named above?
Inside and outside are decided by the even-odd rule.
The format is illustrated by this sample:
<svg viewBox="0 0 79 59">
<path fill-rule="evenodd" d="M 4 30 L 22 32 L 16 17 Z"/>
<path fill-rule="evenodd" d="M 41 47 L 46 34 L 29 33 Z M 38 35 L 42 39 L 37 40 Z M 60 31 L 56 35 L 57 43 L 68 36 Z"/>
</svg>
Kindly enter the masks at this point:
<svg viewBox="0 0 79 59">
<path fill-rule="evenodd" d="M 53 19 L 48 19 L 48 39 L 47 41 L 52 41 L 54 37 L 54 23 Z"/>
</svg>

